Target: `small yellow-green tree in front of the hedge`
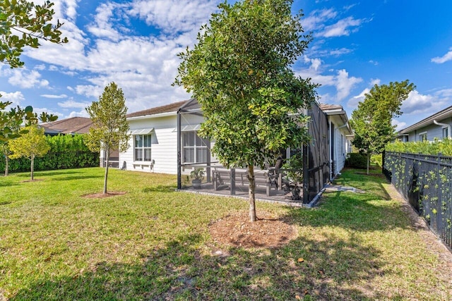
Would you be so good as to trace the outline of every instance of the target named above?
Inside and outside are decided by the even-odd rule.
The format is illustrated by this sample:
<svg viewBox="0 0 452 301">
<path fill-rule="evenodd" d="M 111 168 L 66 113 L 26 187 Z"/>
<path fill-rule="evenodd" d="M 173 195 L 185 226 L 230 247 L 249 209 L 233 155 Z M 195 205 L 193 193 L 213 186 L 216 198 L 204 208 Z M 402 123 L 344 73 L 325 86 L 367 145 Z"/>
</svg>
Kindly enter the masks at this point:
<svg viewBox="0 0 452 301">
<path fill-rule="evenodd" d="M 20 158 L 25 156 L 25 158 L 31 161 L 31 180 L 33 178 L 33 168 L 35 164 L 35 157 L 44 156 L 49 152 L 50 146 L 44 136 L 44 128 L 38 128 L 37 125 L 30 125 L 25 130 L 28 133 L 21 135 L 15 140 L 9 142 L 9 149 L 12 154 L 9 156 L 11 159 Z"/>
</svg>

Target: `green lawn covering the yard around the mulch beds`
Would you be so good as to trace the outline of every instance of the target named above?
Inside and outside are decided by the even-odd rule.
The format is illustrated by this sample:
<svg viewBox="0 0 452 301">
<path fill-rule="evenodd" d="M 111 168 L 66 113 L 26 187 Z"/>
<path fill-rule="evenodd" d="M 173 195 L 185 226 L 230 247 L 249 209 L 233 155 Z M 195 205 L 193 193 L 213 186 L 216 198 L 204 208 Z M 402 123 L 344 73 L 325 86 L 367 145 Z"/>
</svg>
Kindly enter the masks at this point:
<svg viewBox="0 0 452 301">
<path fill-rule="evenodd" d="M 218 245 L 246 202 L 174 192 L 175 176 L 85 168 L 0 177 L 0 300 L 451 300 L 439 258 L 378 174 L 347 170 L 316 209 L 258 203 L 296 226 L 278 249 Z M 221 251 L 221 252 L 218 252 Z M 298 262 L 302 257 L 304 262 Z"/>
</svg>

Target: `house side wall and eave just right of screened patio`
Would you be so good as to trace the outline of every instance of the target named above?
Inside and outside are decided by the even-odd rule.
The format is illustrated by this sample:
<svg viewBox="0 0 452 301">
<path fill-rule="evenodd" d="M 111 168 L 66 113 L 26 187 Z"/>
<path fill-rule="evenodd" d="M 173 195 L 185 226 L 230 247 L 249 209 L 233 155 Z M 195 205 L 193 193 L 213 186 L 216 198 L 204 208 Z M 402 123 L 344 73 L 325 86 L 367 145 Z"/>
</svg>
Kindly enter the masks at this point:
<svg viewBox="0 0 452 301">
<path fill-rule="evenodd" d="M 333 178 L 345 166 L 345 157 L 351 149 L 352 129 L 343 106 L 320 104 L 320 109 L 328 118 L 330 178 Z"/>
</svg>

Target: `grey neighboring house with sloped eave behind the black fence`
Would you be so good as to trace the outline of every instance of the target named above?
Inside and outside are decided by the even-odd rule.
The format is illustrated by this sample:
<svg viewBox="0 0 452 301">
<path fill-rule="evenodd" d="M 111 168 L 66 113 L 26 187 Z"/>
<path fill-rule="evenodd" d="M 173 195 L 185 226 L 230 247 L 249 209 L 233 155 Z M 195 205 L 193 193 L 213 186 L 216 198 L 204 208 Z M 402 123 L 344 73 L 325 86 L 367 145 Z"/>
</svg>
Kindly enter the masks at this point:
<svg viewBox="0 0 452 301">
<path fill-rule="evenodd" d="M 402 142 L 433 141 L 451 138 L 452 106 L 424 118 L 398 132 Z"/>
</svg>

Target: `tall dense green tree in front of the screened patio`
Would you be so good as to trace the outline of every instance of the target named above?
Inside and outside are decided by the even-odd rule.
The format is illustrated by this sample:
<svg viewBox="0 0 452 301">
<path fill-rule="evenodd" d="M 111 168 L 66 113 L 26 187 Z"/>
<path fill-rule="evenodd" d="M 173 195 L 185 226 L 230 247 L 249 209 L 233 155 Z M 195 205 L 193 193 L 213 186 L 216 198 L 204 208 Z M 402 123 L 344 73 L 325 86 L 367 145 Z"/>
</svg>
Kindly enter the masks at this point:
<svg viewBox="0 0 452 301">
<path fill-rule="evenodd" d="M 218 6 L 201 27 L 194 49 L 179 54 L 177 85 L 201 104 L 200 135 L 227 166 L 246 166 L 249 215 L 256 221 L 254 166 L 264 166 L 280 149 L 308 139 L 302 114 L 315 100 L 316 85 L 291 70 L 311 41 L 290 0 L 244 0 Z"/>
</svg>

